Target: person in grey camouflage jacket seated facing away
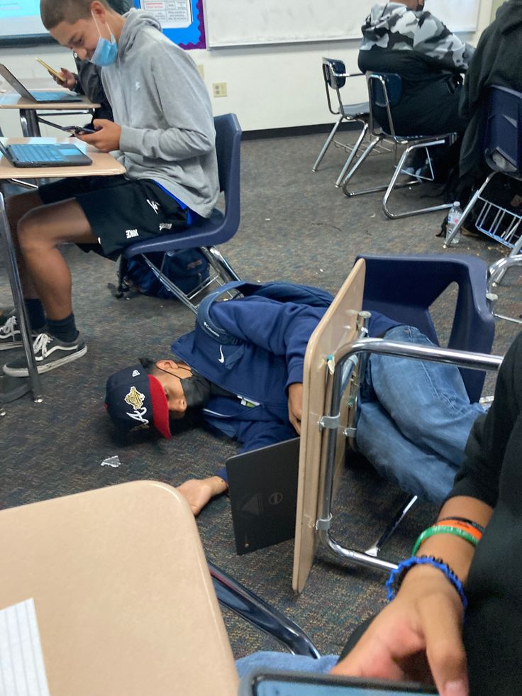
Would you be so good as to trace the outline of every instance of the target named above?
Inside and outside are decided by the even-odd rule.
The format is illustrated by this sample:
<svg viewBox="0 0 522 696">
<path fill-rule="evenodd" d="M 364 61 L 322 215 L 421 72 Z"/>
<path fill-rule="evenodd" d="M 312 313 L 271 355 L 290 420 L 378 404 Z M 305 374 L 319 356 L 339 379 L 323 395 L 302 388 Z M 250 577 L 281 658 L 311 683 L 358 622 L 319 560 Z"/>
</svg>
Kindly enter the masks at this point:
<svg viewBox="0 0 522 696">
<path fill-rule="evenodd" d="M 401 100 L 391 109 L 396 133 L 429 136 L 464 130 L 461 74 L 473 51 L 424 9 L 423 0 L 398 0 L 372 7 L 362 25 L 358 62 L 362 72 L 401 76 Z M 377 110 L 375 116 L 385 119 L 384 114 Z"/>
</svg>

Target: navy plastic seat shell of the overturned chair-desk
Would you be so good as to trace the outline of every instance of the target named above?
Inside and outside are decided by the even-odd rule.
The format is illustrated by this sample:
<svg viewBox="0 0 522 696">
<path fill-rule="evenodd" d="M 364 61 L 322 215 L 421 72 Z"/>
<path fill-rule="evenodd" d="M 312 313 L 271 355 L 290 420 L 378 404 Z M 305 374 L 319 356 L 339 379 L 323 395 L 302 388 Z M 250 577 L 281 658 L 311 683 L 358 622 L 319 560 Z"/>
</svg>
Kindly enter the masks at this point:
<svg viewBox="0 0 522 696">
<path fill-rule="evenodd" d="M 363 309 L 416 326 L 438 345 L 430 306 L 444 290 L 458 285 L 448 348 L 490 353 L 495 323 L 487 306 L 487 264 L 474 256 L 367 256 Z M 472 402 L 478 401 L 484 372 L 460 370 Z"/>
</svg>

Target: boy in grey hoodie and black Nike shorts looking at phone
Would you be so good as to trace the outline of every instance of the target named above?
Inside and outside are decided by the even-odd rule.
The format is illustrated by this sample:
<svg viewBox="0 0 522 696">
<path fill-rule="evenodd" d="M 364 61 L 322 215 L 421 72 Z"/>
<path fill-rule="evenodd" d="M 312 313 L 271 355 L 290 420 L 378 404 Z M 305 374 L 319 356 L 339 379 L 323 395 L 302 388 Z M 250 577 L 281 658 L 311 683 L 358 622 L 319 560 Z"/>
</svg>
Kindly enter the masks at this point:
<svg viewBox="0 0 522 696">
<path fill-rule="evenodd" d="M 62 179 L 7 201 L 38 372 L 47 372 L 87 351 L 57 246 L 74 242 L 117 258 L 130 243 L 209 217 L 219 185 L 206 87 L 155 18 L 135 9 L 121 16 L 105 0 L 41 0 L 40 13 L 61 45 L 103 67 L 116 122 L 96 120 L 96 133 L 81 139 L 126 167 L 123 176 Z M 2 319 L 1 347 L 21 345 L 16 318 Z M 28 375 L 25 358 L 4 372 Z"/>
</svg>

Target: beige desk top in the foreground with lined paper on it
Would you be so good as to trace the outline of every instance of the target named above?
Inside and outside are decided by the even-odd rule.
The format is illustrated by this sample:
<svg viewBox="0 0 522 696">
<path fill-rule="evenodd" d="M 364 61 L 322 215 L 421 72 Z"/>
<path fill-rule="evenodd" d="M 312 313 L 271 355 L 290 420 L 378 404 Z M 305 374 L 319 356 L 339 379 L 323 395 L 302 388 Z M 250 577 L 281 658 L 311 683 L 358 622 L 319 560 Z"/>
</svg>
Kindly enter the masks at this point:
<svg viewBox="0 0 522 696">
<path fill-rule="evenodd" d="M 194 515 L 135 481 L 0 511 L 0 607 L 33 597 L 52 696 L 232 696 Z"/>
</svg>

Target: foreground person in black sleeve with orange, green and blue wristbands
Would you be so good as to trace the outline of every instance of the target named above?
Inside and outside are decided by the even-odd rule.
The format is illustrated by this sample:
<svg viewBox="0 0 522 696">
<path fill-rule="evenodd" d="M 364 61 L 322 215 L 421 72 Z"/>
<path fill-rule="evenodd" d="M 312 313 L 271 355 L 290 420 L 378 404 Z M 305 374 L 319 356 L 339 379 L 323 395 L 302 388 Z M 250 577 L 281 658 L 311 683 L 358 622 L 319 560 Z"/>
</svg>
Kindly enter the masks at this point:
<svg viewBox="0 0 522 696">
<path fill-rule="evenodd" d="M 438 526 L 421 535 L 421 563 L 395 579 L 394 600 L 356 629 L 333 673 L 434 681 L 441 696 L 520 693 L 521 447 L 522 333 L 491 409 L 474 423 Z M 237 664 L 240 675 L 256 666 L 326 671 L 335 658 L 294 659 L 253 653 Z"/>
</svg>

